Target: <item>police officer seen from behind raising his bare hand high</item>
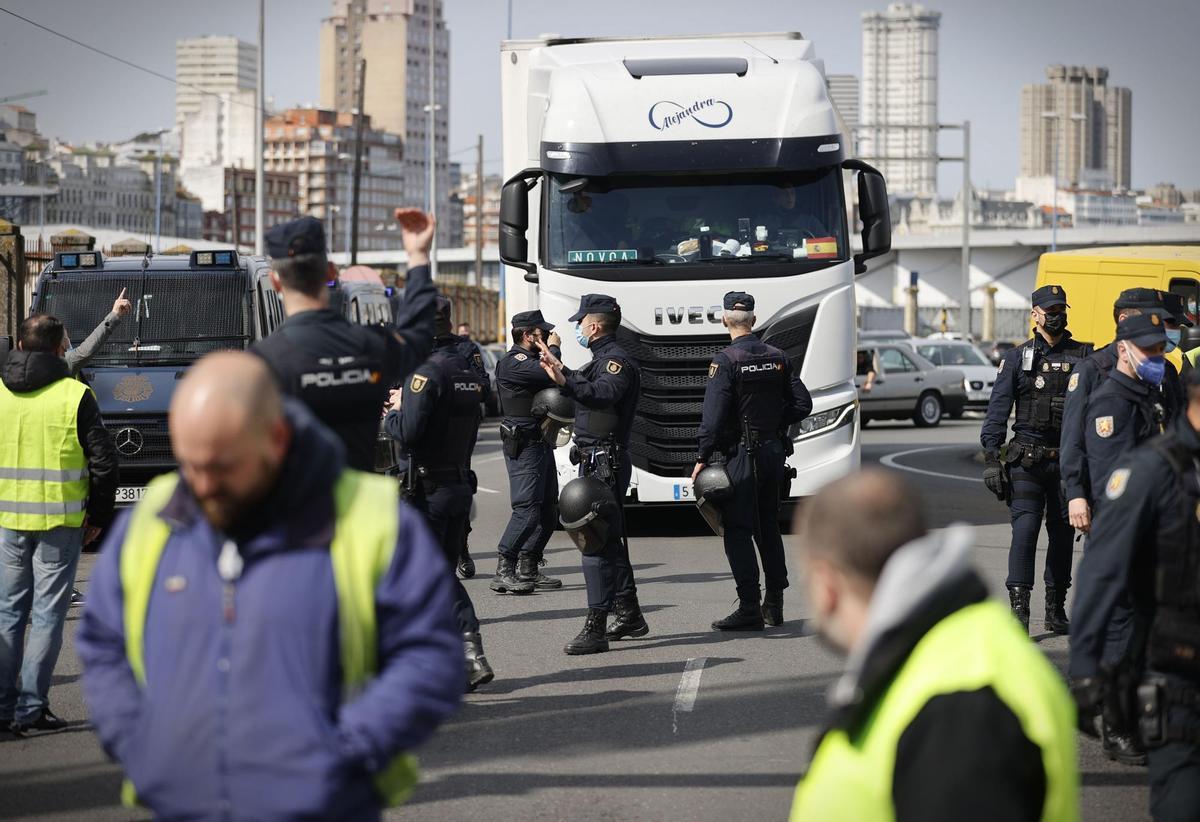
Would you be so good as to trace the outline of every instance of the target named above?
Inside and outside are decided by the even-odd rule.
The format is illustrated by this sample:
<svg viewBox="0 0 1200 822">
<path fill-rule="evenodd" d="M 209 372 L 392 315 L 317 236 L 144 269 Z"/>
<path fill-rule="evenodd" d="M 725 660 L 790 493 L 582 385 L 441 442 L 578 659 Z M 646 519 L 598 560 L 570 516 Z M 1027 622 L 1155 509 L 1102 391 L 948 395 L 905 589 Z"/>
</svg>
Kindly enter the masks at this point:
<svg viewBox="0 0 1200 822">
<path fill-rule="evenodd" d="M 392 326 L 352 325 L 329 308 L 326 283 L 337 275 L 325 257 L 319 220 L 300 217 L 266 233 L 271 284 L 287 320 L 254 346 L 286 394 L 299 397 L 346 445 L 350 468 L 374 470 L 379 409 L 390 386 L 428 356 L 433 300 L 428 250 L 434 220 L 419 209 L 396 209 L 408 252 L 406 298 Z"/>
</svg>

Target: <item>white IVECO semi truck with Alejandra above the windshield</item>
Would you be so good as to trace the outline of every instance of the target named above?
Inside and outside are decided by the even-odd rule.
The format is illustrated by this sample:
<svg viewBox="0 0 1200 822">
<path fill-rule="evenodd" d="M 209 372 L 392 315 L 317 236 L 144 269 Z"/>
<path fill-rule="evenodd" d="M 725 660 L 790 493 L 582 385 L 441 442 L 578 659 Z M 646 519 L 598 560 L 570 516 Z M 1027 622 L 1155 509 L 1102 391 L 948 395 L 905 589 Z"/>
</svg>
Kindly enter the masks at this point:
<svg viewBox="0 0 1200 822">
<path fill-rule="evenodd" d="M 642 372 L 630 502 L 691 499 L 721 298 L 754 294 L 755 332 L 812 392 L 793 426 L 790 493 L 859 464 L 854 275 L 890 248 L 882 175 L 847 138 L 812 43 L 799 34 L 552 38 L 500 48 L 503 296 L 563 330 L 587 293 L 622 306 Z M 844 180 L 858 175 L 853 253 Z M 558 449 L 559 479 L 575 469 Z"/>
</svg>

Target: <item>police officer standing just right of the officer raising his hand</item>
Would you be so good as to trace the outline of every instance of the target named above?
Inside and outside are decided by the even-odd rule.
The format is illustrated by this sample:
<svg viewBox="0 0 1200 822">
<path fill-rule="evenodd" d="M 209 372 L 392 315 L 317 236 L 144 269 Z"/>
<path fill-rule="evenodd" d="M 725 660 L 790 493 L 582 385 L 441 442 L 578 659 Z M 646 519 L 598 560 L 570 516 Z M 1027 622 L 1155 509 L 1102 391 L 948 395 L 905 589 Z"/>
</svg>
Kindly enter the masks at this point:
<svg viewBox="0 0 1200 822">
<path fill-rule="evenodd" d="M 450 300 L 437 298 L 433 353 L 401 391 L 392 391 L 392 410 L 384 419 L 384 430 L 403 451 L 404 497 L 425 515 L 448 568 L 458 558 L 475 493 L 470 455 L 484 400 L 482 383 L 462 355 L 461 341 L 450 332 Z M 484 656 L 475 606 L 457 577 L 454 584 L 455 617 L 467 655 L 467 686 L 475 690 L 494 674 Z"/>
</svg>

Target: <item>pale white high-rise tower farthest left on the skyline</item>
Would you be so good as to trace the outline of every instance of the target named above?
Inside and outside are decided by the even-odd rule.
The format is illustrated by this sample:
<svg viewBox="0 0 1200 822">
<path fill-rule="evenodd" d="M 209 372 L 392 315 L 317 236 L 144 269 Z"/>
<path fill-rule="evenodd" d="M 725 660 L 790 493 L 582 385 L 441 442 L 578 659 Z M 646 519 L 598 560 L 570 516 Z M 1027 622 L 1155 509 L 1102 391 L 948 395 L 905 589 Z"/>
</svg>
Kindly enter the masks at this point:
<svg viewBox="0 0 1200 822">
<path fill-rule="evenodd" d="M 257 86 L 258 47 L 253 43 L 217 36 L 175 41 L 175 125 L 198 114 L 205 97 Z"/>
</svg>

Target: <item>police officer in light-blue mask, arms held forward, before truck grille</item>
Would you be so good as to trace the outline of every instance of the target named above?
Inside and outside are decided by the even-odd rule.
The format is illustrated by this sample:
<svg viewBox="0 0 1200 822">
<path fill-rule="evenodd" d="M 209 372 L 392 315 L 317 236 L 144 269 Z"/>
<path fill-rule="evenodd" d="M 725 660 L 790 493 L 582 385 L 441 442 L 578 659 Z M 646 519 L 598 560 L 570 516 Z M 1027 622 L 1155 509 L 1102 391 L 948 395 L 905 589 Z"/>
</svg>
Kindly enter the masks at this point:
<svg viewBox="0 0 1200 822">
<path fill-rule="evenodd" d="M 618 500 L 602 548 L 583 556 L 588 616 L 583 630 L 563 649 L 568 654 L 594 654 L 608 650 L 610 640 L 646 636 L 650 630 L 637 601 L 625 517 L 619 506 L 632 474 L 629 433 L 642 378 L 637 364 L 617 341 L 620 325 L 617 300 L 607 294 L 584 294 L 569 322 L 576 324 L 575 338 L 592 352 L 592 361 L 572 371 L 541 343 L 541 367 L 575 400 L 574 457 L 578 460 L 580 475 L 600 478 Z M 612 611 L 616 619 L 608 628 Z"/>
</svg>

